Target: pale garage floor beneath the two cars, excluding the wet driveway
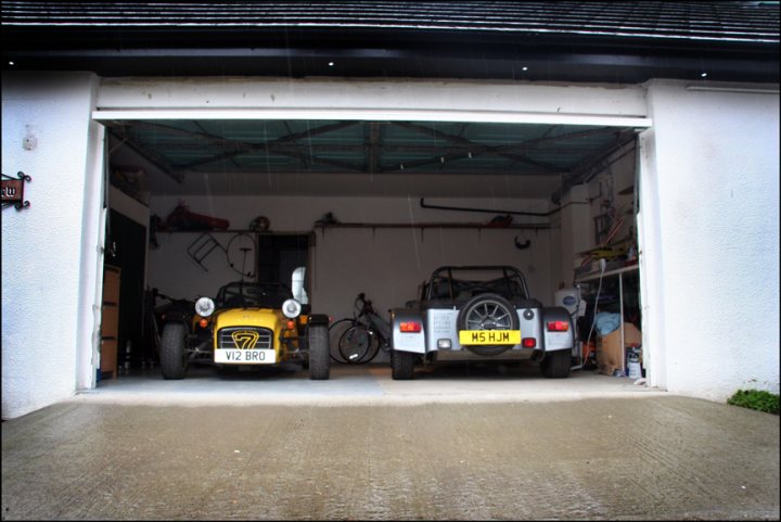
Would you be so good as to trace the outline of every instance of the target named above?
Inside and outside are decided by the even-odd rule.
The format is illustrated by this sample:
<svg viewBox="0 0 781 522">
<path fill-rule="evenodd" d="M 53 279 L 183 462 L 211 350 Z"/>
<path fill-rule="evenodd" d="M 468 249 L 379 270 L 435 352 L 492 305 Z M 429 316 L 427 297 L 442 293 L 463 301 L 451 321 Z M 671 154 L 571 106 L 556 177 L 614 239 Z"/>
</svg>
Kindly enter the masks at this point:
<svg viewBox="0 0 781 522">
<path fill-rule="evenodd" d="M 539 367 L 418 367 L 413 381 L 394 381 L 388 364 L 333 365 L 329 381 L 311 381 L 299 366 L 259 368 L 218 377 L 210 367 L 191 367 L 187 379 L 165 381 L 159 369 L 103 380 L 76 400 L 154 405 L 312 404 L 389 405 L 423 403 L 549 400 L 661 393 L 628 378 L 574 371 L 569 379 L 545 379 Z"/>
</svg>

